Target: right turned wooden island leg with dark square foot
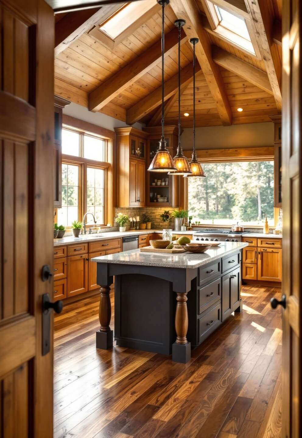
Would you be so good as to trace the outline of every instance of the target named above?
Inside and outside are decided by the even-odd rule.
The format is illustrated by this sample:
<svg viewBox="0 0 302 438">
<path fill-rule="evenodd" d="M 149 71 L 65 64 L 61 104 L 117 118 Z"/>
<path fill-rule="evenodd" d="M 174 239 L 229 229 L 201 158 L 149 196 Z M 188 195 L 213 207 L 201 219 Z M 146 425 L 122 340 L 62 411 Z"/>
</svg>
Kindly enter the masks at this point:
<svg viewBox="0 0 302 438">
<path fill-rule="evenodd" d="M 175 330 L 176 341 L 172 345 L 172 360 L 187 363 L 191 358 L 191 343 L 188 342 L 187 293 L 176 293 Z"/>
</svg>

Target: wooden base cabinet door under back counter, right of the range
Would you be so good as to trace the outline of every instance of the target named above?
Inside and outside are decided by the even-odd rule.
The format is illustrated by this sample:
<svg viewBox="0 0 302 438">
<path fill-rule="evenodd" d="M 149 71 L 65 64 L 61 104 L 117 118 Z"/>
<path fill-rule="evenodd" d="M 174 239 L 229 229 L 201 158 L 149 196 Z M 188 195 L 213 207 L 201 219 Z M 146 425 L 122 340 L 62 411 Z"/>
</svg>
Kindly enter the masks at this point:
<svg viewBox="0 0 302 438">
<path fill-rule="evenodd" d="M 282 281 L 282 250 L 258 248 L 258 280 Z"/>
</svg>

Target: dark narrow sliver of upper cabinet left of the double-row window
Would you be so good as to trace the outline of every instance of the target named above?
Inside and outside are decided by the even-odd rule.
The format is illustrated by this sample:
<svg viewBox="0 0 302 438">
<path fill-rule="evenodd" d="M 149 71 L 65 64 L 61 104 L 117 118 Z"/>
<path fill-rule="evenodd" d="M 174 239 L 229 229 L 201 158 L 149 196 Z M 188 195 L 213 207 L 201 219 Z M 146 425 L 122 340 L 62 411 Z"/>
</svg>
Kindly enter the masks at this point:
<svg viewBox="0 0 302 438">
<path fill-rule="evenodd" d="M 53 207 L 62 207 L 62 113 L 70 101 L 54 96 Z"/>
</svg>

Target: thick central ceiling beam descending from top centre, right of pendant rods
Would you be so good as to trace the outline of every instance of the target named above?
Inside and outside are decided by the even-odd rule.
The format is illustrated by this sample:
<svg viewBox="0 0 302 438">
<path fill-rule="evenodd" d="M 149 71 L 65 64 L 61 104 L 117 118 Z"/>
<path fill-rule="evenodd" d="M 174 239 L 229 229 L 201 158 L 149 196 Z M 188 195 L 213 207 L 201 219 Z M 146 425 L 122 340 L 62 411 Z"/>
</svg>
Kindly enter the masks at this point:
<svg viewBox="0 0 302 438">
<path fill-rule="evenodd" d="M 186 24 L 183 29 L 188 38 L 199 39 L 199 43 L 195 46 L 196 57 L 216 102 L 222 124 L 230 125 L 232 123 L 231 106 L 219 67 L 212 59 L 211 42 L 201 23 L 195 0 L 171 0 L 170 5 L 177 18 L 185 19 Z"/>
</svg>

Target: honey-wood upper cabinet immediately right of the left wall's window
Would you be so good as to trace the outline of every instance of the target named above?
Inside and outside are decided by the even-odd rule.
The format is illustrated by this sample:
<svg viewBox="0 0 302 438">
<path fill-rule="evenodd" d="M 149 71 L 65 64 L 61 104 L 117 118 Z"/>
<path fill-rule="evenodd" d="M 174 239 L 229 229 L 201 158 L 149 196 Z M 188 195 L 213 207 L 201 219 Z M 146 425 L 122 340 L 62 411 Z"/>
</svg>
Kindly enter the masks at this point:
<svg viewBox="0 0 302 438">
<path fill-rule="evenodd" d="M 146 206 L 146 132 L 115 128 L 117 145 L 117 207 Z"/>
</svg>

